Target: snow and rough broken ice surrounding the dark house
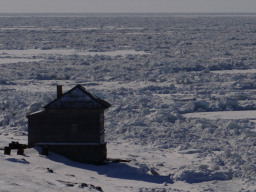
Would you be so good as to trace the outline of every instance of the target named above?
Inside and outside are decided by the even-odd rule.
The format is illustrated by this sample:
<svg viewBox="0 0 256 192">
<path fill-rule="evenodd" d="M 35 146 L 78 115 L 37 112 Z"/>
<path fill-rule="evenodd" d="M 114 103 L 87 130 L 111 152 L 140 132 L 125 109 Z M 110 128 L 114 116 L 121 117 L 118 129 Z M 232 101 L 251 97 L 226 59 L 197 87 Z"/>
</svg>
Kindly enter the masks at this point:
<svg viewBox="0 0 256 192">
<path fill-rule="evenodd" d="M 0 148 L 76 84 L 112 104 L 107 165 L 0 150 L 0 191 L 255 191 L 256 22 L 227 15 L 0 17 Z"/>
</svg>

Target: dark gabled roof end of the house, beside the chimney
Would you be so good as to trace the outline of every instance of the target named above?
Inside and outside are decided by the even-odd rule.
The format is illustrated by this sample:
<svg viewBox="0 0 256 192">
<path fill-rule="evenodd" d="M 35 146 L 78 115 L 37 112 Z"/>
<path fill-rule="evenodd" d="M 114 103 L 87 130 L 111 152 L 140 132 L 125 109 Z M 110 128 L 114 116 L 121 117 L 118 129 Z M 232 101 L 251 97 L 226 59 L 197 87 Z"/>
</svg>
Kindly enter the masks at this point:
<svg viewBox="0 0 256 192">
<path fill-rule="evenodd" d="M 103 99 L 96 97 L 85 90 L 81 85 L 76 85 L 60 98 L 53 100 L 44 108 L 47 109 L 107 109 L 111 105 Z"/>
</svg>

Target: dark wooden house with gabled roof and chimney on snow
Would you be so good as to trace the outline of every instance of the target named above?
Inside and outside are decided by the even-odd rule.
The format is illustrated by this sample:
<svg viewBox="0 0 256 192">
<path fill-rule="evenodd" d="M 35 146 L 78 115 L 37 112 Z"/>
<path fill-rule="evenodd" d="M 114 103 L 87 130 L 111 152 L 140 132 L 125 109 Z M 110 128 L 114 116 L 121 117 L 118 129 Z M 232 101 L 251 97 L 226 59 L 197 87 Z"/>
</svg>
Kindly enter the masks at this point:
<svg viewBox="0 0 256 192">
<path fill-rule="evenodd" d="M 106 159 L 104 110 L 111 105 L 77 85 L 28 118 L 28 146 L 41 146 L 74 161 L 97 163 Z"/>
</svg>

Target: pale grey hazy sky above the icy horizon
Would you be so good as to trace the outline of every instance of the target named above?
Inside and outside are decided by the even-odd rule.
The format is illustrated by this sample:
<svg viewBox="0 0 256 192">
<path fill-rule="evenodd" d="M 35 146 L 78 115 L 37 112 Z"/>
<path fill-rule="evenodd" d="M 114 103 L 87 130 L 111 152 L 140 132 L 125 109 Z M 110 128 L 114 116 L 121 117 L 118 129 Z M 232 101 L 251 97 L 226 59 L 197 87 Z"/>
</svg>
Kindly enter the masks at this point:
<svg viewBox="0 0 256 192">
<path fill-rule="evenodd" d="M 0 0 L 0 13 L 256 12 L 256 0 Z"/>
</svg>

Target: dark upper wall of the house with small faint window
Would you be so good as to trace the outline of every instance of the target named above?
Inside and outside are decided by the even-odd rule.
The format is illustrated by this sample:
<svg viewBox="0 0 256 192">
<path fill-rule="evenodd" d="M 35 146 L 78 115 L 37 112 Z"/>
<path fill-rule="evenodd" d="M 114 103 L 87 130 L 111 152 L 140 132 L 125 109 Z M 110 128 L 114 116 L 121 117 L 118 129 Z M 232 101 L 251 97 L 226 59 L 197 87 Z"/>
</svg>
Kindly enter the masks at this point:
<svg viewBox="0 0 256 192">
<path fill-rule="evenodd" d="M 104 111 L 48 110 L 28 116 L 28 145 L 41 142 L 103 143 Z"/>
</svg>

